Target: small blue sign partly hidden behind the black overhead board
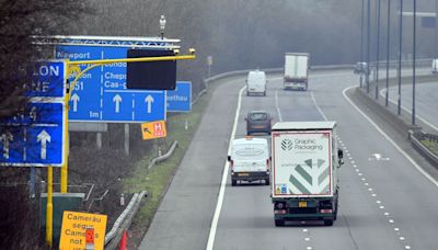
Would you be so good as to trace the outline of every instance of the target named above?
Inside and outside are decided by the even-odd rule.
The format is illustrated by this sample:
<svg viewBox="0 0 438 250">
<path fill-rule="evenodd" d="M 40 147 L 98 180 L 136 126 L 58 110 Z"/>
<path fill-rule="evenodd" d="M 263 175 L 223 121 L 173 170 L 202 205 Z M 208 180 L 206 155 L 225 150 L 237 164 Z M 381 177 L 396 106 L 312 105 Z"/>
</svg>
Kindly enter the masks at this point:
<svg viewBox="0 0 438 250">
<path fill-rule="evenodd" d="M 192 110 L 192 82 L 176 81 L 175 90 L 166 91 L 169 112 L 189 112 Z"/>
</svg>

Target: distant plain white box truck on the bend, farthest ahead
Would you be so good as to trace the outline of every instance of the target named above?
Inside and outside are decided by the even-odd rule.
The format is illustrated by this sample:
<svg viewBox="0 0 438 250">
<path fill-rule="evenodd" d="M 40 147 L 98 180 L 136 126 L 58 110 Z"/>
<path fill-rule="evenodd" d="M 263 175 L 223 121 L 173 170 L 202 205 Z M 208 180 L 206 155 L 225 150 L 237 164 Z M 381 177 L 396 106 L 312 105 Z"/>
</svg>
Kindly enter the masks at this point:
<svg viewBox="0 0 438 250">
<path fill-rule="evenodd" d="M 309 58 L 308 53 L 286 53 L 285 89 L 308 89 Z"/>
</svg>

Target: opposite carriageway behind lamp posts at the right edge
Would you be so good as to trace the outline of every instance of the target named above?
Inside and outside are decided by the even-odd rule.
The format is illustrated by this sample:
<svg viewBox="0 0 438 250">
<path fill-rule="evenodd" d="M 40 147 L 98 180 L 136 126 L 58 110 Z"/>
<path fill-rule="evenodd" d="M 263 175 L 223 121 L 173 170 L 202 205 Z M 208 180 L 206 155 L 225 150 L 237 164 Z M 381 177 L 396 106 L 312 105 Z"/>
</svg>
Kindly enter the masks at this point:
<svg viewBox="0 0 438 250">
<path fill-rule="evenodd" d="M 412 84 L 402 86 L 402 109 L 412 115 Z M 415 87 L 415 114 L 425 124 L 438 132 L 438 84 L 437 82 L 425 82 Z M 384 90 L 381 96 L 384 96 Z M 388 96 L 391 103 L 396 105 L 399 88 L 391 87 Z"/>
</svg>

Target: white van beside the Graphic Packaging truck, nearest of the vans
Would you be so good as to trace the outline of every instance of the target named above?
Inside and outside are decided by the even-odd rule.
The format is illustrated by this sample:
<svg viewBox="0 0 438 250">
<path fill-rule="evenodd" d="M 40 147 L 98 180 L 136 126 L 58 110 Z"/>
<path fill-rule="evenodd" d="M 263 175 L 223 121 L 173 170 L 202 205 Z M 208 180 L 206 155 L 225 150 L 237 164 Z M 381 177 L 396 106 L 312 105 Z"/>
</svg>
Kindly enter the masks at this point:
<svg viewBox="0 0 438 250">
<path fill-rule="evenodd" d="M 231 168 L 231 185 L 238 181 L 264 180 L 269 185 L 270 156 L 267 139 L 245 138 L 231 141 L 231 156 L 228 156 Z"/>
</svg>

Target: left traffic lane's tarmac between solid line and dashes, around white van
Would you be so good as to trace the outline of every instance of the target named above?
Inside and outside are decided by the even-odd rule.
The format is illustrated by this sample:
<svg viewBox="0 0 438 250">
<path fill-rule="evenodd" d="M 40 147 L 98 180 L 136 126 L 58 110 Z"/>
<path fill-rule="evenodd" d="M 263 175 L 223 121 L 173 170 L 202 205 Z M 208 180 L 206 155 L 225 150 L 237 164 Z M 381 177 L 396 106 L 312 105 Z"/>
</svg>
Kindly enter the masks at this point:
<svg viewBox="0 0 438 250">
<path fill-rule="evenodd" d="M 261 107 L 275 113 L 275 94 L 270 93 L 275 93 L 279 83 L 269 81 L 267 96 L 242 96 L 240 117 L 250 110 Z M 245 134 L 245 123 L 240 118 L 235 137 Z M 254 137 L 269 138 L 265 135 Z M 306 249 L 303 234 L 299 228 L 280 230 L 281 228 L 275 227 L 269 186 L 263 181 L 231 186 L 230 175 L 229 172 L 214 249 L 286 249 L 290 247 L 290 242 Z"/>
</svg>

